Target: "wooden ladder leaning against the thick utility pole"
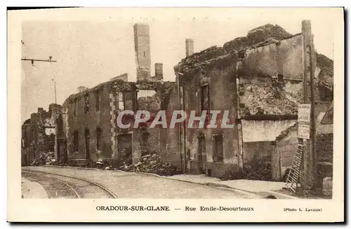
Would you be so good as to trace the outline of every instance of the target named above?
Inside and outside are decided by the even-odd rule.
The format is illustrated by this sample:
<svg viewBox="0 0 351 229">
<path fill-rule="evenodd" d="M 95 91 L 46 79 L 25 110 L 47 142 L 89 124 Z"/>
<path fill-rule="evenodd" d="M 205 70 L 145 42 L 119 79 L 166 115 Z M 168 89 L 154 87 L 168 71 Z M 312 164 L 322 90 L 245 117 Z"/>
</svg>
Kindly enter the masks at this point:
<svg viewBox="0 0 351 229">
<path fill-rule="evenodd" d="M 296 193 L 296 188 L 298 187 L 298 178 L 300 175 L 300 165 L 303 158 L 303 144 L 298 144 L 298 149 L 293 156 L 293 163 L 291 164 L 291 169 L 286 179 L 286 186 Z"/>
</svg>

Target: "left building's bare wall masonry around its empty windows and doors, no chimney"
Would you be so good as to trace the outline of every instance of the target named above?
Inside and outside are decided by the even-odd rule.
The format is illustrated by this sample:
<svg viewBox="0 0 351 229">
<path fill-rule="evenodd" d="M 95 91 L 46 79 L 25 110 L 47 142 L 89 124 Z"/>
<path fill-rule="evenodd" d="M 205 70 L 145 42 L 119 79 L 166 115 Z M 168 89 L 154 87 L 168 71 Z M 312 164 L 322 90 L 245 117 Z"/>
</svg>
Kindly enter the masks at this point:
<svg viewBox="0 0 351 229">
<path fill-rule="evenodd" d="M 68 109 L 68 139 L 69 158 L 71 159 L 90 159 L 98 160 L 118 160 L 118 134 L 131 133 L 132 134 L 132 150 L 133 162 L 138 162 L 141 156 L 142 146 L 140 146 L 140 133 L 144 130 L 134 129 L 133 125 L 130 129 L 121 129 L 117 126 L 117 116 L 121 110 L 118 106 L 118 92 L 124 93 L 124 109 L 138 110 L 145 109 L 151 111 L 152 114 L 157 113 L 164 106 L 164 101 L 168 100 L 168 89 L 173 87 L 172 82 L 152 82 L 152 81 L 137 81 L 124 82 L 120 79 L 115 79 L 100 85 L 95 86 L 85 92 L 71 95 L 66 103 Z M 136 92 L 138 90 L 154 90 L 156 95 L 152 97 L 142 97 L 136 99 Z M 95 92 L 100 93 L 100 109 L 95 109 Z M 89 111 L 84 112 L 84 96 L 88 93 Z M 77 105 L 76 105 L 77 104 Z M 77 106 L 77 115 L 74 116 L 74 106 Z M 131 117 L 133 121 L 133 117 Z M 102 129 L 102 155 L 98 155 L 96 128 Z M 84 132 L 89 130 L 89 155 L 86 155 Z M 73 134 L 74 131 L 79 131 L 79 151 L 74 153 Z M 159 151 L 159 130 L 147 130 L 149 132 L 148 150 Z"/>
</svg>

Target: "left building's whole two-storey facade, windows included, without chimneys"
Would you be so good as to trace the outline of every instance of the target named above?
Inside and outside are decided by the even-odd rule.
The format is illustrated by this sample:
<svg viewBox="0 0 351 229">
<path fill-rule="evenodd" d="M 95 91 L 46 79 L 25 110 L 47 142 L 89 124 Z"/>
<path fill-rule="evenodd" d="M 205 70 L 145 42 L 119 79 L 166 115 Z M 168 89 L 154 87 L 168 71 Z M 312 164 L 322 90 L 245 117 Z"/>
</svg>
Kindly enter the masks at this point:
<svg viewBox="0 0 351 229">
<path fill-rule="evenodd" d="M 67 107 L 65 126 L 68 127 L 66 132 L 69 160 L 95 162 L 98 159 L 132 158 L 136 163 L 143 151 L 159 153 L 158 129 L 142 126 L 137 129 L 133 126 L 122 129 L 117 126 L 117 116 L 121 111 L 137 109 L 145 109 L 154 114 L 161 109 L 159 101 L 166 96 L 167 88 L 171 86 L 172 82 L 135 83 L 116 79 L 69 96 L 64 104 Z M 141 90 L 152 90 L 154 95 L 138 98 Z"/>
</svg>

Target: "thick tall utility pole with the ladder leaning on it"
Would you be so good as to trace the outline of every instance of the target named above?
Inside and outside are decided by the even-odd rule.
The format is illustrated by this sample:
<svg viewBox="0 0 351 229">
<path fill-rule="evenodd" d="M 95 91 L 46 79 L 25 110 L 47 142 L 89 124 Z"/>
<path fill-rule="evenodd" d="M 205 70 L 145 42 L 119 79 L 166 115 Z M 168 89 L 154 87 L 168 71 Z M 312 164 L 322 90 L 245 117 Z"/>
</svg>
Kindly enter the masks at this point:
<svg viewBox="0 0 351 229">
<path fill-rule="evenodd" d="M 310 20 L 302 22 L 303 36 L 303 103 L 310 104 L 310 138 L 303 139 L 303 169 L 300 183 L 303 192 L 310 193 L 316 187 L 317 157 L 314 152 L 315 123 L 314 123 L 314 70 L 316 59 L 314 54 L 313 35 Z"/>
</svg>

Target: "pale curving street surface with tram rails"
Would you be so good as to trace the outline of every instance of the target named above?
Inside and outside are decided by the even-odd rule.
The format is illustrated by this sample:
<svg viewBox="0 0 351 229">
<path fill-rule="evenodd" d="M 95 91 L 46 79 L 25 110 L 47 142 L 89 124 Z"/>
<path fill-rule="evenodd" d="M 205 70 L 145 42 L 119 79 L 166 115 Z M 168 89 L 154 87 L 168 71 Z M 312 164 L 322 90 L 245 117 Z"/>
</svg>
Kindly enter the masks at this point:
<svg viewBox="0 0 351 229">
<path fill-rule="evenodd" d="M 49 198 L 257 198 L 250 193 L 133 172 L 72 167 L 22 167 L 22 177 L 39 183 Z"/>
</svg>

